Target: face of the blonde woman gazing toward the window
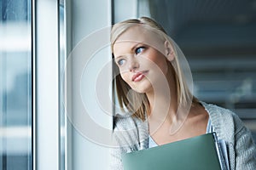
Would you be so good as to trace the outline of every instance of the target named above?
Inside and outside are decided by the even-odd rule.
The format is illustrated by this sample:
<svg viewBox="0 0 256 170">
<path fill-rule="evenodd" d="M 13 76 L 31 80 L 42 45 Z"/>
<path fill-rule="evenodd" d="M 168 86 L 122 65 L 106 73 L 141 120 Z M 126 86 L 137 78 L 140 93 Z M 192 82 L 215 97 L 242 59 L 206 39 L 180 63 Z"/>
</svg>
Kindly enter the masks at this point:
<svg viewBox="0 0 256 170">
<path fill-rule="evenodd" d="M 120 76 L 138 93 L 154 91 L 168 71 L 165 41 L 142 26 L 125 31 L 113 45 Z"/>
</svg>

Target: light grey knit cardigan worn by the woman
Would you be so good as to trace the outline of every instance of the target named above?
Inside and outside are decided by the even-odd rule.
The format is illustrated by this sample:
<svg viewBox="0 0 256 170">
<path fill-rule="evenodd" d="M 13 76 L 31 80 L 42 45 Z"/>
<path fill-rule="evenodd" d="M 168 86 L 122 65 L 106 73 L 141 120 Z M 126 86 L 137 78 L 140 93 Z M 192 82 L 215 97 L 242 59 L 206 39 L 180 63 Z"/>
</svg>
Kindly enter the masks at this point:
<svg viewBox="0 0 256 170">
<path fill-rule="evenodd" d="M 209 114 L 218 139 L 227 144 L 230 170 L 255 170 L 256 147 L 250 131 L 236 114 L 201 102 Z M 114 120 L 113 141 L 119 147 L 111 151 L 111 170 L 122 170 L 121 155 L 148 148 L 148 122 L 137 118 L 117 117 Z"/>
</svg>

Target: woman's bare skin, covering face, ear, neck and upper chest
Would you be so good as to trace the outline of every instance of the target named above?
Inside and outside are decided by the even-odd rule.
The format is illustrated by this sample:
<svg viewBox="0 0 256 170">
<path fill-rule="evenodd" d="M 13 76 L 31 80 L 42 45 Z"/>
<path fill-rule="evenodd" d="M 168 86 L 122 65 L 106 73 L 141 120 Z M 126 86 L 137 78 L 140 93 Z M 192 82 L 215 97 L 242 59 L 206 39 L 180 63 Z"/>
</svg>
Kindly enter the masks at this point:
<svg viewBox="0 0 256 170">
<path fill-rule="evenodd" d="M 207 111 L 202 105 L 195 104 L 179 130 L 170 134 L 177 114 L 177 91 L 174 70 L 168 65 L 175 57 L 169 42 L 141 26 L 133 26 L 114 43 L 113 55 L 123 80 L 148 97 L 151 109 L 147 113 L 149 133 L 156 144 L 168 144 L 206 133 Z M 166 114 L 161 115 L 163 113 Z M 160 119 L 163 121 L 159 126 Z"/>
</svg>

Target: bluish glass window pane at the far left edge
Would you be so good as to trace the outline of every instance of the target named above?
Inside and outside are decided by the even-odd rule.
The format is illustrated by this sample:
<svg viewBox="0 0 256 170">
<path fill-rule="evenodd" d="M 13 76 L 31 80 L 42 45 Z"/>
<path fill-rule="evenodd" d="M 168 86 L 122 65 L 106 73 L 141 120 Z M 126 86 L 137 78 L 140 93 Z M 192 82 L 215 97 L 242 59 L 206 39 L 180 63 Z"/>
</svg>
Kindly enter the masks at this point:
<svg viewBox="0 0 256 170">
<path fill-rule="evenodd" d="M 0 12 L 0 169 L 32 169 L 31 2 Z"/>
</svg>

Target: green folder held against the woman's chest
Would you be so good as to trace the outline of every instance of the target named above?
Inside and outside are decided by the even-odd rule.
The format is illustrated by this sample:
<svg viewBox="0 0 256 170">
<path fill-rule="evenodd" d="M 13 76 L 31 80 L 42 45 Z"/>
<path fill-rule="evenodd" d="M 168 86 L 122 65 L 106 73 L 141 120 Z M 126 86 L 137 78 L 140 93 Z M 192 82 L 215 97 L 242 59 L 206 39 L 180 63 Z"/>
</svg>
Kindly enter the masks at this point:
<svg viewBox="0 0 256 170">
<path fill-rule="evenodd" d="M 221 170 L 215 133 L 122 156 L 125 170 Z"/>
</svg>

